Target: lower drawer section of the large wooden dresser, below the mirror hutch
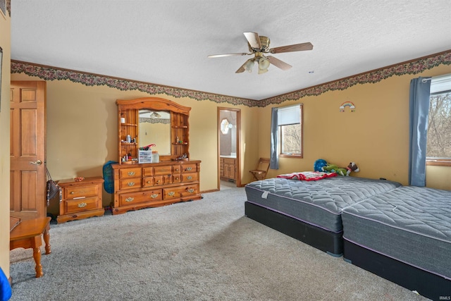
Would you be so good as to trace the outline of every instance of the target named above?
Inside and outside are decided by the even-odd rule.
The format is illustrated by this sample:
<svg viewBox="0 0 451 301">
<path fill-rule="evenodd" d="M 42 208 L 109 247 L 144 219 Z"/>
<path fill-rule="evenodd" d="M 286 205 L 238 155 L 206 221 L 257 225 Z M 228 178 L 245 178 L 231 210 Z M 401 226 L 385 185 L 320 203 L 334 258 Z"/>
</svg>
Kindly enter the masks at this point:
<svg viewBox="0 0 451 301">
<path fill-rule="evenodd" d="M 202 199 L 199 193 L 200 163 L 201 161 L 165 161 L 113 164 L 113 214 Z"/>
</svg>

